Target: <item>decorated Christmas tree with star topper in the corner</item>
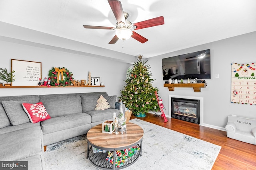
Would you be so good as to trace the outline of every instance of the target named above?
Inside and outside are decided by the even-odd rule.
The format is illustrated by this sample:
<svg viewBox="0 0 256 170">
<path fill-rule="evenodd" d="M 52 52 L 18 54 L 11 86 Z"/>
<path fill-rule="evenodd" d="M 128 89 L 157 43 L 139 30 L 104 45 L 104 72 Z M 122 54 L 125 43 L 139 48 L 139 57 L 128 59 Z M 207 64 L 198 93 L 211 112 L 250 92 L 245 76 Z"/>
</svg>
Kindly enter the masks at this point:
<svg viewBox="0 0 256 170">
<path fill-rule="evenodd" d="M 146 61 L 147 62 L 147 61 Z M 145 117 L 149 111 L 158 111 L 159 105 L 156 100 L 155 91 L 158 88 L 152 86 L 153 79 L 149 73 L 149 65 L 142 61 L 139 56 L 138 62 L 134 62 L 132 70 L 128 71 L 126 86 L 121 90 L 120 100 L 127 108 L 132 109 L 137 117 Z"/>
</svg>

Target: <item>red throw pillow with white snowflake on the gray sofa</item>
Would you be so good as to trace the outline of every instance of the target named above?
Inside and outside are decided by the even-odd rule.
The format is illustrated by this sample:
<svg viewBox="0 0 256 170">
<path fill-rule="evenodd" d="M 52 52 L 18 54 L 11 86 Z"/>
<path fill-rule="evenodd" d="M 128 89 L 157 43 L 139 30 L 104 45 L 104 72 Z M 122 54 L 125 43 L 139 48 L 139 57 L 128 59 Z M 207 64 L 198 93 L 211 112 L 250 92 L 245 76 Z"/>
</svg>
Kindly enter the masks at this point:
<svg viewBox="0 0 256 170">
<path fill-rule="evenodd" d="M 50 119 L 50 115 L 46 112 L 46 109 L 42 102 L 36 104 L 22 103 L 22 106 L 27 113 L 31 123 L 37 123 Z"/>
</svg>

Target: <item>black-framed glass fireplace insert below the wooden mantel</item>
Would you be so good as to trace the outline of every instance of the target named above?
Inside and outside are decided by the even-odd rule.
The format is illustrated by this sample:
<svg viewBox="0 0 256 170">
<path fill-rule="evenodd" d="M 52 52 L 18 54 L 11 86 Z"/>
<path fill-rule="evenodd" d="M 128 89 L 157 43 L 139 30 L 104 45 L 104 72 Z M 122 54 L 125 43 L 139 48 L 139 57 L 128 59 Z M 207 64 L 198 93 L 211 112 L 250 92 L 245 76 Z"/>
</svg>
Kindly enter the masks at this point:
<svg viewBox="0 0 256 170">
<path fill-rule="evenodd" d="M 171 98 L 171 117 L 199 125 L 200 100 Z"/>
</svg>

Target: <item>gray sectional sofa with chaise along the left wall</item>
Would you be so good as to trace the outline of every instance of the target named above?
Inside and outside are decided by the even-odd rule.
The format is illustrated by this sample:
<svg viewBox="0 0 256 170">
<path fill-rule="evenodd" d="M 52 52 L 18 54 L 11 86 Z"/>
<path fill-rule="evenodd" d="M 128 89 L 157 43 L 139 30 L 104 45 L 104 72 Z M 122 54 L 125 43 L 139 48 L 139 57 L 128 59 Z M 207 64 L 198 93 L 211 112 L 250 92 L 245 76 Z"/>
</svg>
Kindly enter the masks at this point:
<svg viewBox="0 0 256 170">
<path fill-rule="evenodd" d="M 94 110 L 100 95 L 109 109 Z M 44 169 L 46 145 L 84 135 L 91 127 L 112 119 L 114 112 L 119 114 L 116 96 L 106 92 L 4 96 L 0 102 L 0 160 L 26 160 L 29 170 Z M 22 103 L 38 102 L 51 118 L 30 123 Z"/>
</svg>

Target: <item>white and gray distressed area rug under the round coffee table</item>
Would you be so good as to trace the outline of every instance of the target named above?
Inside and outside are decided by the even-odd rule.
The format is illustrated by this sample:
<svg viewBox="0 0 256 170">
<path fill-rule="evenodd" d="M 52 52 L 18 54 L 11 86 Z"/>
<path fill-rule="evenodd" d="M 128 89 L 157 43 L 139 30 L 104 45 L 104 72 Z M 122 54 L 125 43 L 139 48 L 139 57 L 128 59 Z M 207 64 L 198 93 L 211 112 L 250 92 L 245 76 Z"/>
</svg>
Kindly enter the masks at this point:
<svg viewBox="0 0 256 170">
<path fill-rule="evenodd" d="M 132 119 L 144 130 L 142 156 L 127 170 L 210 170 L 221 147 L 170 129 Z M 117 141 L 118 142 L 118 141 Z M 47 146 L 46 170 L 98 170 L 86 159 L 86 135 Z"/>
</svg>

